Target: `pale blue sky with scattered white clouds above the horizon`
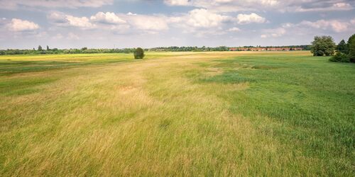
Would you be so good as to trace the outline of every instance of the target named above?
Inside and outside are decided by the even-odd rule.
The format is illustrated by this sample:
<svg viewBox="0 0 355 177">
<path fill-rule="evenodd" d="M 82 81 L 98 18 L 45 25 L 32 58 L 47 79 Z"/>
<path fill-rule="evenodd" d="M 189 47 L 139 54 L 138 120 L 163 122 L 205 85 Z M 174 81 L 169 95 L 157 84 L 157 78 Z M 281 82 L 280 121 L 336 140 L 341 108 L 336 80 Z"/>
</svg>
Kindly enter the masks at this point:
<svg viewBox="0 0 355 177">
<path fill-rule="evenodd" d="M 308 45 L 355 33 L 355 0 L 0 0 L 0 49 Z"/>
</svg>

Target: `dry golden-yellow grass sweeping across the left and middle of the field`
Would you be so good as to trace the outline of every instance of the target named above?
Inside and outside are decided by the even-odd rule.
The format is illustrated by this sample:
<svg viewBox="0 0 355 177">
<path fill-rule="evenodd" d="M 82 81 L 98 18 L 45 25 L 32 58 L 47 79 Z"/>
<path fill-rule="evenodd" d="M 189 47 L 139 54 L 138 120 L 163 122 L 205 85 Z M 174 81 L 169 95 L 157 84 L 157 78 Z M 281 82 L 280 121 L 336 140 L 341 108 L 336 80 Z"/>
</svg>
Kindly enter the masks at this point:
<svg viewBox="0 0 355 177">
<path fill-rule="evenodd" d="M 213 67 L 216 59 L 264 53 L 151 55 L 136 62 L 1 76 L 0 81 L 54 80 L 33 86 L 38 90 L 33 93 L 1 95 L 0 176 L 328 174 L 321 159 L 295 151 L 244 115 L 231 113 L 221 95 L 245 91 L 248 82 L 201 83 L 193 76 L 222 74 Z M 69 58 L 56 58 L 62 59 Z"/>
</svg>

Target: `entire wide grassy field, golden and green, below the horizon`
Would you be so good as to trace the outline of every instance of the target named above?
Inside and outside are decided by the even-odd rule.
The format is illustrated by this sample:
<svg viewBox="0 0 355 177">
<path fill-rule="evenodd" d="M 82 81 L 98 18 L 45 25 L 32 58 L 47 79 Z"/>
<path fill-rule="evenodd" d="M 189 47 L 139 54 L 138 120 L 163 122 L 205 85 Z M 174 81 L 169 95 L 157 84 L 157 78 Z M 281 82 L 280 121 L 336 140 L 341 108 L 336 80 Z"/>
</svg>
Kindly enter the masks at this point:
<svg viewBox="0 0 355 177">
<path fill-rule="evenodd" d="M 0 57 L 0 176 L 354 176 L 354 139 L 307 51 Z"/>
</svg>

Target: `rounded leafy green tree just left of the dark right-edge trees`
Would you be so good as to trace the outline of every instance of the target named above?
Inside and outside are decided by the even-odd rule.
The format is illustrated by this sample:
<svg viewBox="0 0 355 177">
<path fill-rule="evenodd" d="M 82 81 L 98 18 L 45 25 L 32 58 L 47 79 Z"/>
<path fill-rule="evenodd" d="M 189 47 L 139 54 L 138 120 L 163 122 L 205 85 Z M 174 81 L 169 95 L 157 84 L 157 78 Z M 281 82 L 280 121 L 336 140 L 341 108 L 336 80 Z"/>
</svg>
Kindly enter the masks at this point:
<svg viewBox="0 0 355 177">
<path fill-rule="evenodd" d="M 312 42 L 311 52 L 313 56 L 330 56 L 334 55 L 334 50 L 337 47 L 331 36 L 315 36 Z"/>
</svg>

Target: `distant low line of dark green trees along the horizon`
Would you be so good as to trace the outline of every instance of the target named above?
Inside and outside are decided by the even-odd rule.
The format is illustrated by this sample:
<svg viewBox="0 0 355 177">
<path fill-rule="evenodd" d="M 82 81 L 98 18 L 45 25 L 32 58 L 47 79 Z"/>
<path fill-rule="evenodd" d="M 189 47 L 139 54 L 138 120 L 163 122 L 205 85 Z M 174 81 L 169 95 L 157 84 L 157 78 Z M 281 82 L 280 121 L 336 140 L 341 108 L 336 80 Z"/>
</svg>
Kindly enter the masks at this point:
<svg viewBox="0 0 355 177">
<path fill-rule="evenodd" d="M 212 52 L 212 51 L 255 51 L 260 49 L 273 49 L 273 50 L 310 50 L 310 45 L 289 45 L 289 46 L 244 46 L 244 47 L 153 47 L 144 49 L 145 51 L 152 52 Z M 46 47 L 43 49 L 41 46 L 38 46 L 37 49 L 33 50 L 17 50 L 17 49 L 8 49 L 0 50 L 0 55 L 40 55 L 40 54 L 85 54 L 85 53 L 131 53 L 134 52 L 135 48 L 124 48 L 124 49 L 88 49 L 83 47 L 82 49 L 58 49 Z"/>
</svg>

